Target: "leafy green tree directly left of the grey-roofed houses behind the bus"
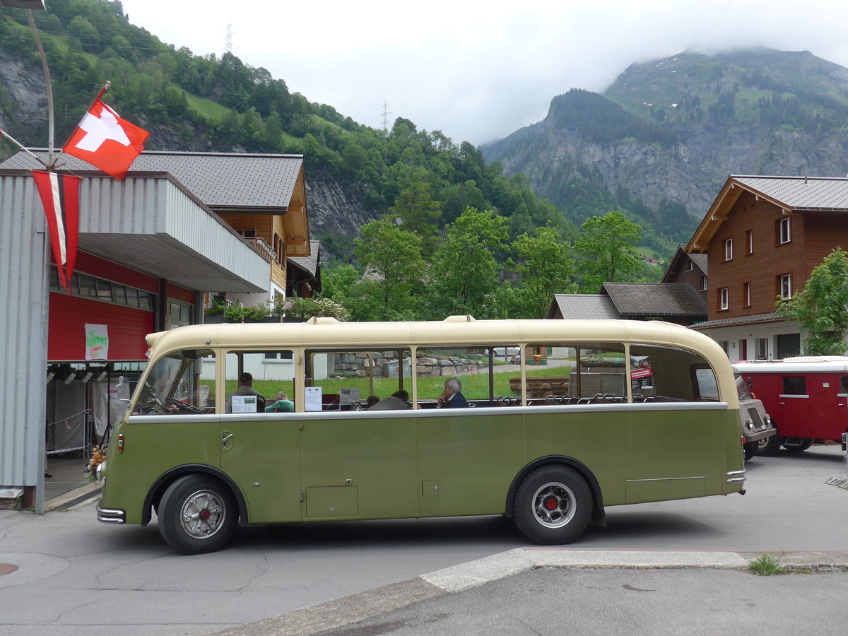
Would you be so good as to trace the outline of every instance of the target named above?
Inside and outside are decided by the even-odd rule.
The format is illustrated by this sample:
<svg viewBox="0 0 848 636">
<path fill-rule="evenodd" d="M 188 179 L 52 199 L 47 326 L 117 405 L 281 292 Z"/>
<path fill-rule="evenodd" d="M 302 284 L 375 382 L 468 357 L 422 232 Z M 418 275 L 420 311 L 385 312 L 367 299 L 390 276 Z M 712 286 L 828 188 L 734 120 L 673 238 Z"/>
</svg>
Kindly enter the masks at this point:
<svg viewBox="0 0 848 636">
<path fill-rule="evenodd" d="M 553 227 L 539 227 L 512 243 L 521 286 L 514 293 L 513 318 L 544 318 L 555 293 L 574 293 L 574 259 Z"/>
</svg>

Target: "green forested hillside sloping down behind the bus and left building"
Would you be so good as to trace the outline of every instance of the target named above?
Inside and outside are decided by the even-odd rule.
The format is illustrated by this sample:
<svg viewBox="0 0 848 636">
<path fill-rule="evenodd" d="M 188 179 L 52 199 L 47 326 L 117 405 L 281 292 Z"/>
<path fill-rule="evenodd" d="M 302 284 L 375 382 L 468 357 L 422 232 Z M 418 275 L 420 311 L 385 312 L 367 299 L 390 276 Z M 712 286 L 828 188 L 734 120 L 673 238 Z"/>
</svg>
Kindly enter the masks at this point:
<svg viewBox="0 0 848 636">
<path fill-rule="evenodd" d="M 365 183 L 360 204 L 375 220 L 360 237 L 314 237 L 335 257 L 323 266 L 325 295 L 343 302 L 353 318 L 541 317 L 552 293 L 597 293 L 605 281 L 661 277 L 661 267 L 639 259 L 644 232 L 628 209 L 639 202 L 628 204 L 626 193 L 601 196 L 605 188 L 589 179 L 578 214 L 569 214 L 535 196 L 525 176 L 505 176 L 499 163 L 487 164 L 469 142 L 419 130 L 403 117 L 384 130 L 362 126 L 289 92 L 285 81 L 232 53 L 198 56 L 160 42 L 130 24 L 120 0 L 51 0 L 47 12 L 36 14 L 59 144 L 110 81 L 104 101 L 153 132 L 148 148 L 303 153 L 307 179 L 326 171 Z M 3 10 L 0 42 L 2 53 L 41 75 L 24 11 Z M 3 92 L 0 106 L 14 110 Z M 632 126 L 633 135 L 673 142 L 656 126 L 613 115 L 616 134 Z M 27 145 L 46 145 L 46 131 L 14 119 L 8 127 Z M 3 148 L 3 156 L 10 152 Z M 572 219 L 586 221 L 578 227 Z M 605 269 L 612 257 L 589 240 L 589 221 L 613 228 L 609 237 L 628 237 L 616 243 L 626 266 Z M 670 252 L 673 243 L 655 240 L 642 252 L 667 257 L 656 248 Z"/>
</svg>

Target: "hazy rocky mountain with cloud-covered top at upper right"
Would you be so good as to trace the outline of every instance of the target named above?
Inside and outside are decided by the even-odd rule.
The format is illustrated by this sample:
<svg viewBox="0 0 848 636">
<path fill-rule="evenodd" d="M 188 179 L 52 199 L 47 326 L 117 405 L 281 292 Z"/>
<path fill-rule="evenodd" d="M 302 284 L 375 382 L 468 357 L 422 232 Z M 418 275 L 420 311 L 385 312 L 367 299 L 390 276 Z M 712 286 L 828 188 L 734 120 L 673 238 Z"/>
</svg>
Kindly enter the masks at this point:
<svg viewBox="0 0 848 636">
<path fill-rule="evenodd" d="M 730 174 L 845 176 L 848 69 L 809 52 L 680 53 L 483 145 L 581 222 L 603 202 L 684 241 Z"/>
</svg>

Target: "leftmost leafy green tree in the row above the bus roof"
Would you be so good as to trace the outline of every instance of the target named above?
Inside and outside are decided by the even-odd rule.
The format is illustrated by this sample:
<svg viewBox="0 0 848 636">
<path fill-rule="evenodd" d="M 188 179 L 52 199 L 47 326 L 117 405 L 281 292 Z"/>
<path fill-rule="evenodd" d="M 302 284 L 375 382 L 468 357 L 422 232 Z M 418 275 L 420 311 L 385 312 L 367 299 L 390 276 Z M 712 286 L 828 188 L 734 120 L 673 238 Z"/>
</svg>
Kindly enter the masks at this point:
<svg viewBox="0 0 848 636">
<path fill-rule="evenodd" d="M 388 220 L 372 220 L 354 240 L 354 256 L 370 275 L 371 282 L 363 283 L 373 287 L 369 296 L 378 301 L 368 319 L 410 319 L 416 308 L 413 295 L 424 275 L 421 238 Z"/>
</svg>

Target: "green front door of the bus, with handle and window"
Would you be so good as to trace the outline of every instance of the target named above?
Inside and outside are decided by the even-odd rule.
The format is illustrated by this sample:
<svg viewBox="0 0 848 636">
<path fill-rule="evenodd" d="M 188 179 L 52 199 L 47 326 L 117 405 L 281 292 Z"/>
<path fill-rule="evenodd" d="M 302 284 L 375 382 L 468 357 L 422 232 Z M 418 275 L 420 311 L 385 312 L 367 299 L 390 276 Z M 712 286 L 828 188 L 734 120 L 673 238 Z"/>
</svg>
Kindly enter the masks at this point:
<svg viewBox="0 0 848 636">
<path fill-rule="evenodd" d="M 298 416 L 278 404 L 294 408 L 293 367 L 291 350 L 230 351 L 219 377 L 220 466 L 241 489 L 250 523 L 302 518 Z"/>
</svg>

